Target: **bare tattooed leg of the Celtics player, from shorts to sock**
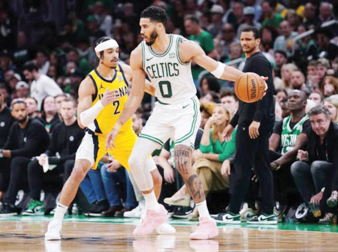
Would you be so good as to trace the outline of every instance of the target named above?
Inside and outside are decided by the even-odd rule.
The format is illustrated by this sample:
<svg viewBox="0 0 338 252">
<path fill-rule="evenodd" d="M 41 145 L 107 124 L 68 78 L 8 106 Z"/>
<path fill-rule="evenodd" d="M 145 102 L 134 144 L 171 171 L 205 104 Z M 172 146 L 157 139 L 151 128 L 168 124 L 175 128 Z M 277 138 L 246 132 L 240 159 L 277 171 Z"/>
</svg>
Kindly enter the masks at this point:
<svg viewBox="0 0 338 252">
<path fill-rule="evenodd" d="M 191 167 L 192 150 L 186 145 L 176 145 L 174 149 L 175 164 L 182 175 L 186 187 L 195 203 L 205 201 L 205 195 L 200 177 Z"/>
</svg>

